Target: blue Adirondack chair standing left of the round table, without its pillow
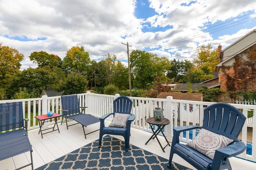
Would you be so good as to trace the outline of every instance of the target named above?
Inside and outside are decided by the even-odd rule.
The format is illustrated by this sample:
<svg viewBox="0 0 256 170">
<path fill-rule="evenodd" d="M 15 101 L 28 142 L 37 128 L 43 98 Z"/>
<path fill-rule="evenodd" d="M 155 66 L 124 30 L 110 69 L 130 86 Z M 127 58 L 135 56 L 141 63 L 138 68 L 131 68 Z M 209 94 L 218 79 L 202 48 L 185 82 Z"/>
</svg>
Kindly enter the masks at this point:
<svg viewBox="0 0 256 170">
<path fill-rule="evenodd" d="M 130 129 L 131 129 L 131 123 L 135 119 L 135 115 L 131 114 L 127 123 L 126 127 L 105 127 L 105 119 L 109 117 L 110 115 L 115 115 L 115 113 L 122 113 L 122 114 L 130 114 L 132 110 L 132 100 L 130 100 L 126 96 L 119 96 L 114 100 L 114 112 L 108 113 L 106 115 L 103 115 L 100 117 L 100 139 L 99 139 L 99 148 L 101 147 L 102 143 L 102 137 L 105 134 L 109 135 L 121 135 L 124 137 L 124 143 L 125 143 L 125 150 L 129 150 L 129 141 L 130 141 Z"/>
</svg>

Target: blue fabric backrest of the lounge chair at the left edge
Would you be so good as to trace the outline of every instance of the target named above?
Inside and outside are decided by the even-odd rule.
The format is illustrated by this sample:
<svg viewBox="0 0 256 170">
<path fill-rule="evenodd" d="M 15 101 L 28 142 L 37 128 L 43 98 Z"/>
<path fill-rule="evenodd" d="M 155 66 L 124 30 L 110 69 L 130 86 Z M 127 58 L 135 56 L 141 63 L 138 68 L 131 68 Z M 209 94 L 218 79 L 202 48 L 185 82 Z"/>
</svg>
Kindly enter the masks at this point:
<svg viewBox="0 0 256 170">
<path fill-rule="evenodd" d="M 22 102 L 0 104 L 0 131 L 24 127 Z"/>
</svg>

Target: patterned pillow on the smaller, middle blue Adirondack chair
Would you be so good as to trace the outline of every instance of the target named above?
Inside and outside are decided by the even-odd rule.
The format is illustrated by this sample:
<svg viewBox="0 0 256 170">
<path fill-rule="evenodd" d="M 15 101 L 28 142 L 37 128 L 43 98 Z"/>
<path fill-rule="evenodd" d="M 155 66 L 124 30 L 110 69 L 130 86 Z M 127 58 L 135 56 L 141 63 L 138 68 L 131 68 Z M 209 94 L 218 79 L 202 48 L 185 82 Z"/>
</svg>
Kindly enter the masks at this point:
<svg viewBox="0 0 256 170">
<path fill-rule="evenodd" d="M 109 127 L 126 127 L 126 123 L 131 114 L 115 113 L 114 119 L 110 123 Z"/>
</svg>

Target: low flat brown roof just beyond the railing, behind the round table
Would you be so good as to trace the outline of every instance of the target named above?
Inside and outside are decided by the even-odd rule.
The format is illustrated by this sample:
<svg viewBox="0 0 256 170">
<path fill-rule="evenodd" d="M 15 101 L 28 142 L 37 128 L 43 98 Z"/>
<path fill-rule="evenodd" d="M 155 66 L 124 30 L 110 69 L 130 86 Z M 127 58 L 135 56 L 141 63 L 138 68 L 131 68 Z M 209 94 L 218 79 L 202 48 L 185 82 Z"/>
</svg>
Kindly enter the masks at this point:
<svg viewBox="0 0 256 170">
<path fill-rule="evenodd" d="M 203 95 L 201 93 L 169 93 L 161 92 L 157 98 L 166 99 L 167 96 L 172 96 L 175 100 L 192 100 L 192 101 L 203 101 Z"/>
</svg>

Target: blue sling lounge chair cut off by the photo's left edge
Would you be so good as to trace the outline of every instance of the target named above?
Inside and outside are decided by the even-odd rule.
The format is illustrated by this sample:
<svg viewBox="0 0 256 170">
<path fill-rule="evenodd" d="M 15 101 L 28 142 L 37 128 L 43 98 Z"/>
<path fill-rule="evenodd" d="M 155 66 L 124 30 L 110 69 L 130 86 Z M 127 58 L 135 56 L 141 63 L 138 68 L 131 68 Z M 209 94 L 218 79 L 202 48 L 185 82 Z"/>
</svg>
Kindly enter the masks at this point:
<svg viewBox="0 0 256 170">
<path fill-rule="evenodd" d="M 25 121 L 25 126 L 24 126 Z M 0 160 L 30 152 L 32 166 L 32 146 L 28 140 L 28 119 L 23 118 L 22 102 L 0 104 Z"/>
</svg>

